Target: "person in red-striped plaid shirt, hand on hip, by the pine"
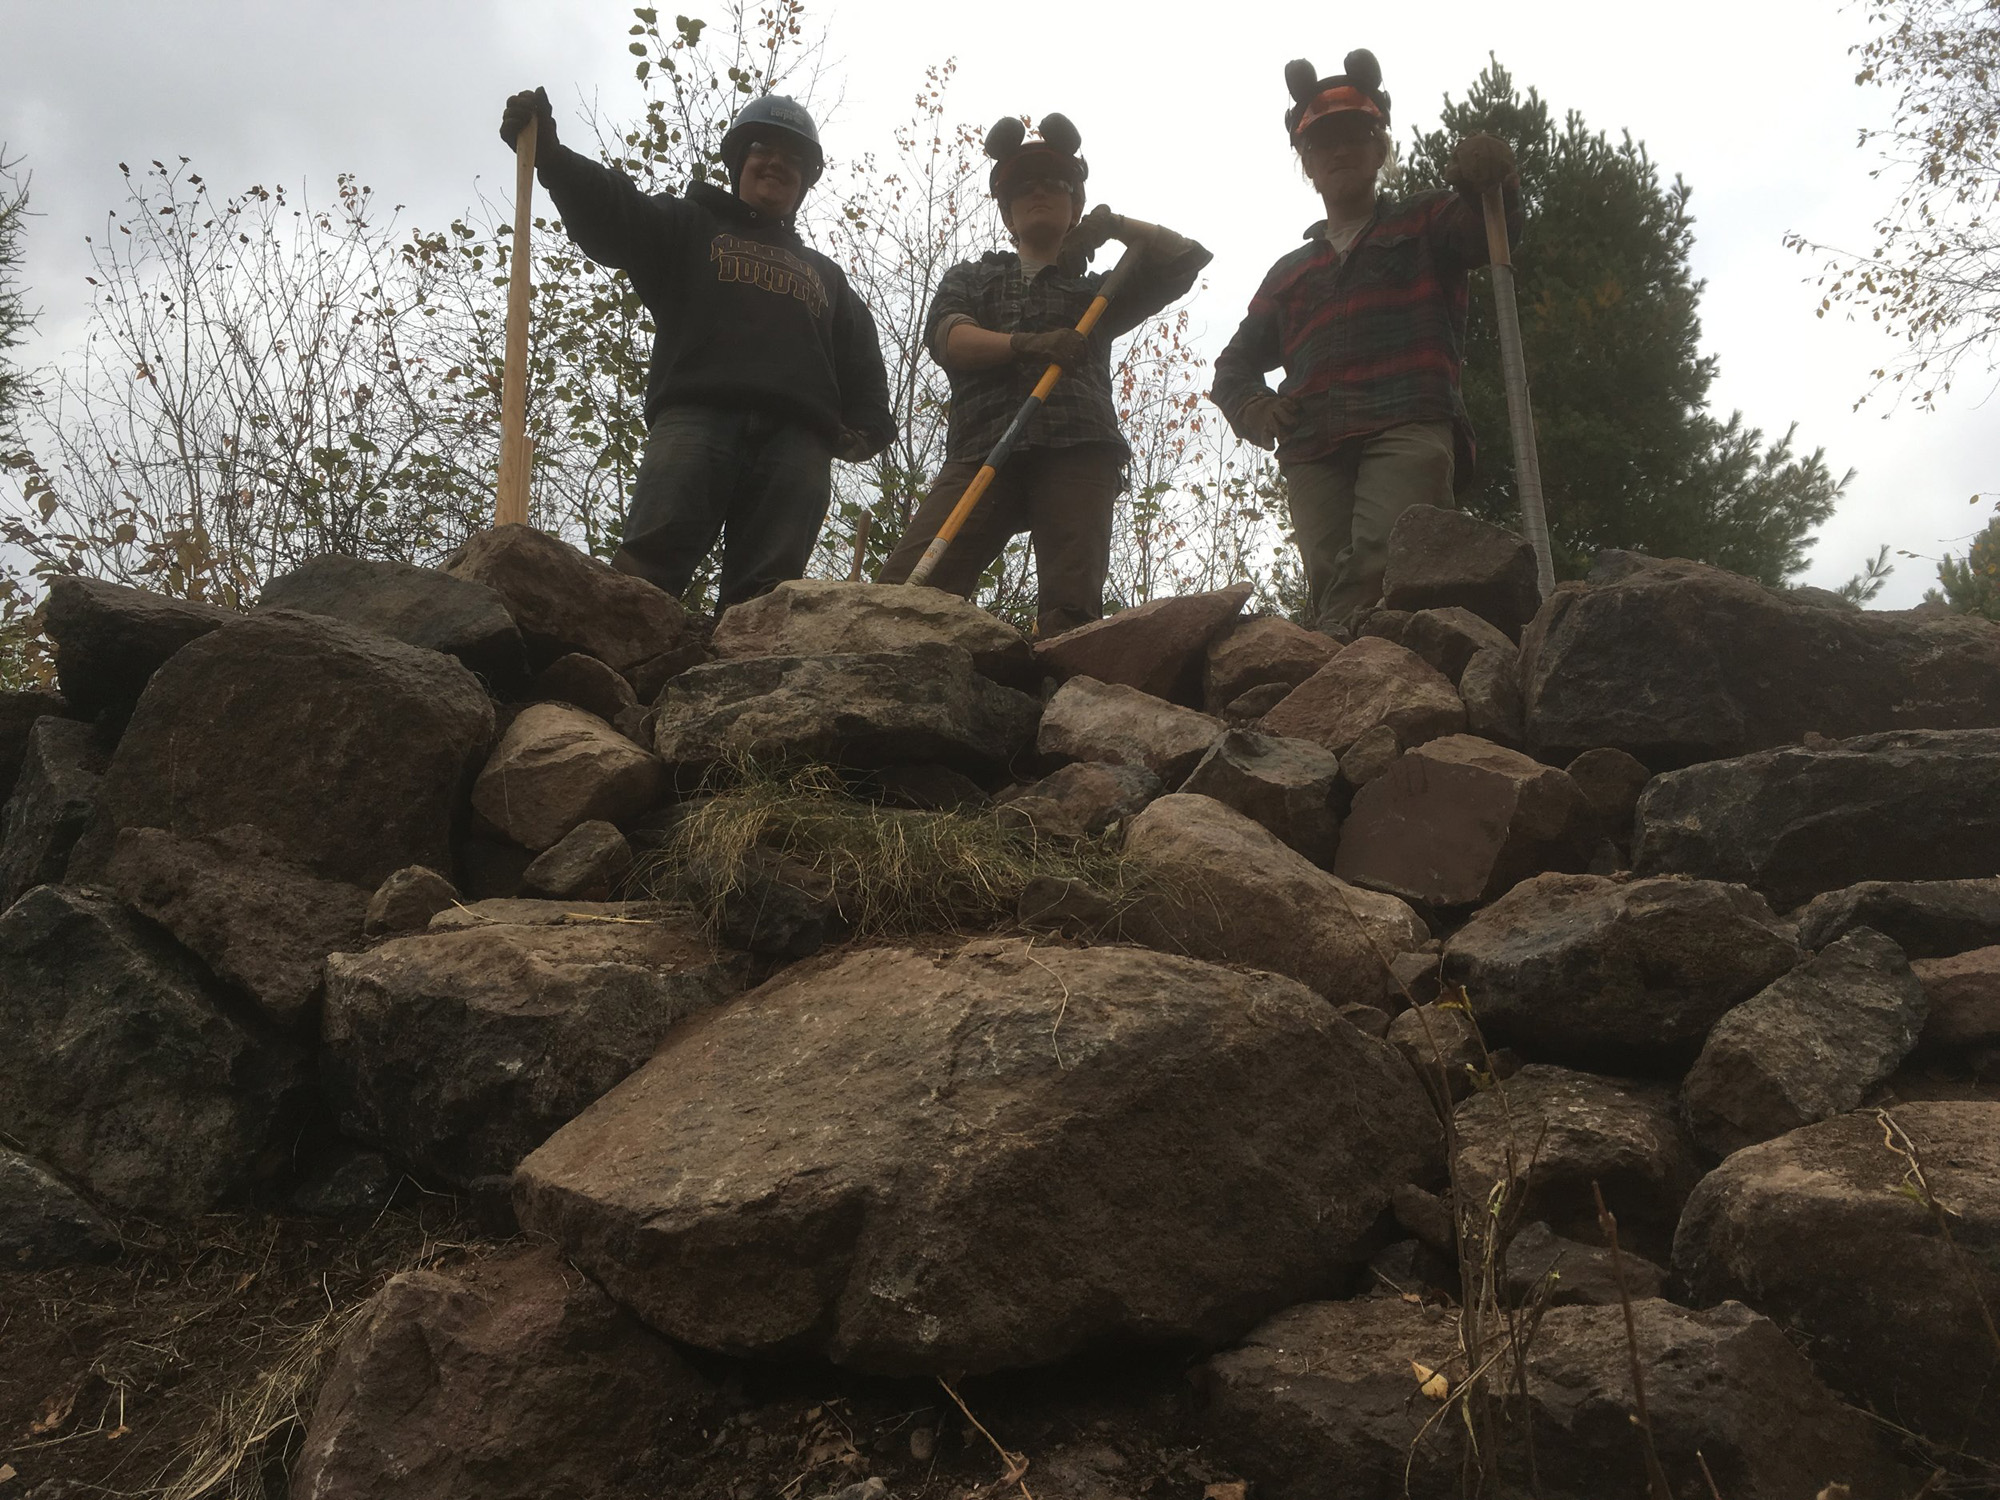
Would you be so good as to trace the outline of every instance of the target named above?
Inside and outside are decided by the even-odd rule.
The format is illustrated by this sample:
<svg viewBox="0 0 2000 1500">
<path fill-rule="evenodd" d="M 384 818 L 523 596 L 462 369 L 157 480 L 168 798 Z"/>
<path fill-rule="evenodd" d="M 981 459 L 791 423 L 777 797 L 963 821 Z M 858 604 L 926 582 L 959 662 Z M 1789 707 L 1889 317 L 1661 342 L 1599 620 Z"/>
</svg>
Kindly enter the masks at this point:
<svg viewBox="0 0 2000 1500">
<path fill-rule="evenodd" d="M 1446 170 L 1452 190 L 1380 200 L 1388 94 L 1374 54 L 1350 52 L 1334 78 L 1304 60 L 1284 76 L 1284 130 L 1326 218 L 1264 276 L 1210 400 L 1240 438 L 1276 446 L 1312 618 L 1344 638 L 1382 594 L 1396 516 L 1452 506 L 1472 478 L 1458 370 L 1468 272 L 1486 264 L 1480 194 L 1506 186 L 1510 234 L 1520 194 L 1508 146 L 1472 136 Z"/>
</svg>

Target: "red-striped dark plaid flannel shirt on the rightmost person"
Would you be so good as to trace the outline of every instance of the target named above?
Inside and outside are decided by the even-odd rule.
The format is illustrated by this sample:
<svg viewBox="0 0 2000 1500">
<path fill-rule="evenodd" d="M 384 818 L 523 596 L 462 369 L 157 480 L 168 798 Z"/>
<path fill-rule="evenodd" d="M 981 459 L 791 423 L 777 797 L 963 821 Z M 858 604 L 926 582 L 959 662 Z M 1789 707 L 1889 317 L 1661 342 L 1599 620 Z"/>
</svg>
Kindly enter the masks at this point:
<svg viewBox="0 0 2000 1500">
<path fill-rule="evenodd" d="M 1466 350 L 1466 278 L 1486 264 L 1486 222 L 1476 198 L 1422 192 L 1378 202 L 1346 254 L 1306 230 L 1250 298 L 1250 314 L 1216 358 L 1210 400 L 1236 422 L 1244 402 L 1268 396 L 1264 372 L 1284 366 L 1278 394 L 1298 398 L 1300 418 L 1278 460 L 1326 458 L 1348 438 L 1404 422 L 1450 422 L 1458 480 L 1472 476 L 1472 422 L 1458 390 Z M 1508 190 L 1508 232 L 1520 232 L 1520 198 Z"/>
</svg>

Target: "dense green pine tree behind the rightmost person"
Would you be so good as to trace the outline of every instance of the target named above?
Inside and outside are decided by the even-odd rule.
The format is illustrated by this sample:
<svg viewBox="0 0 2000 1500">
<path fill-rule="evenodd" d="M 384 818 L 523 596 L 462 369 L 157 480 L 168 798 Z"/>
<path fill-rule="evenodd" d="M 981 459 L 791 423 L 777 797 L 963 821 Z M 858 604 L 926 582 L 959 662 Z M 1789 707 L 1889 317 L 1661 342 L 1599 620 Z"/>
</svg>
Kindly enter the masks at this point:
<svg viewBox="0 0 2000 1500">
<path fill-rule="evenodd" d="M 1578 576 L 1600 548 L 1696 558 L 1780 584 L 1806 562 L 1846 478 L 1792 434 L 1766 444 L 1740 414 L 1708 412 L 1714 356 L 1700 352 L 1690 188 L 1662 182 L 1644 144 L 1590 130 L 1522 96 L 1498 62 L 1442 128 L 1412 142 L 1404 188 L 1444 186 L 1452 146 L 1506 140 L 1520 162 L 1526 228 L 1514 246 L 1528 384 L 1556 570 Z M 1480 462 L 1466 504 L 1514 524 L 1514 460 L 1492 292 L 1474 278 L 1466 408 Z"/>
</svg>

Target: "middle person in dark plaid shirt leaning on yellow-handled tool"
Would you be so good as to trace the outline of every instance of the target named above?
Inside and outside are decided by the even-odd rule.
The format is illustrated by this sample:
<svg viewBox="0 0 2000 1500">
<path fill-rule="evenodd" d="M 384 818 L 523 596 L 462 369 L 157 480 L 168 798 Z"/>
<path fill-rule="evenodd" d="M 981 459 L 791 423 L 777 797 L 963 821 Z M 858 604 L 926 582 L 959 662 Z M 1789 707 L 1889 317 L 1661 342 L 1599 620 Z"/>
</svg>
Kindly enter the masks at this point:
<svg viewBox="0 0 2000 1500">
<path fill-rule="evenodd" d="M 1084 258 L 1118 232 L 1098 208 L 1084 218 L 1082 138 L 1060 114 L 1040 140 L 1006 118 L 986 136 L 988 178 L 1014 250 L 996 250 L 944 272 L 924 338 L 952 382 L 946 462 L 910 518 L 882 582 L 900 584 L 944 526 L 986 454 L 1050 364 L 1062 378 L 994 476 L 978 510 L 930 574 L 936 588 L 970 596 L 1020 532 L 1034 538 L 1036 634 L 1054 636 L 1104 614 L 1112 506 L 1132 456 L 1112 406 L 1112 340 L 1184 296 L 1210 254 L 1170 230 L 1142 242 L 1144 260 L 1088 338 L 1076 332 L 1104 276 Z"/>
</svg>

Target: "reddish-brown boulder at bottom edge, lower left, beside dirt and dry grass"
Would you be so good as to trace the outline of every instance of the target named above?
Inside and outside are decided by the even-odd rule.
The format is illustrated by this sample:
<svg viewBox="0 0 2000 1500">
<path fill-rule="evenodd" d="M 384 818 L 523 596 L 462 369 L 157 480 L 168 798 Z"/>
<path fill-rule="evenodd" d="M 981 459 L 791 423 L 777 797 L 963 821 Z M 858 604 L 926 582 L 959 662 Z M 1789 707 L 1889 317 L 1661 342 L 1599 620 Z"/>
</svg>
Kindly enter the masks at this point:
<svg viewBox="0 0 2000 1500">
<path fill-rule="evenodd" d="M 548 1246 L 410 1270 L 340 1340 L 292 1500 L 652 1500 L 708 1396 Z"/>
</svg>

